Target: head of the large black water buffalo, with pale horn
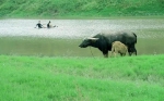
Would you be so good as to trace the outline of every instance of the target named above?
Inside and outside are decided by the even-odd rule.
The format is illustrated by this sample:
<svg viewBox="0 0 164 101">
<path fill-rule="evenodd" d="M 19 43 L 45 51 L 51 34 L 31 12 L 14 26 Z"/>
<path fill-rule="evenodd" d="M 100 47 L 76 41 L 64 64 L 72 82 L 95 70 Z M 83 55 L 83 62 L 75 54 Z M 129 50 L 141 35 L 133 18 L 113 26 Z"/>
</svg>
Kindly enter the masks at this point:
<svg viewBox="0 0 164 101">
<path fill-rule="evenodd" d="M 98 40 L 98 38 L 85 38 L 79 47 L 86 48 L 92 46 L 96 40 Z"/>
</svg>

